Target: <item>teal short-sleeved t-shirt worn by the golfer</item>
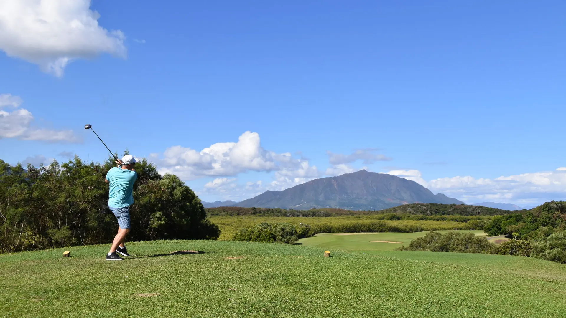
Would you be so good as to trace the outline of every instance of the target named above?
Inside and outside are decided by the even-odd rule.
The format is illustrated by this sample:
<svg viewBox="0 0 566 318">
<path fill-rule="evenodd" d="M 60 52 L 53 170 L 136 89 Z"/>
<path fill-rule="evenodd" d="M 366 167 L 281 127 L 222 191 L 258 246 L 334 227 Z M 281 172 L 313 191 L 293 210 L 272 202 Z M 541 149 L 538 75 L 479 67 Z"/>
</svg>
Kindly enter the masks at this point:
<svg viewBox="0 0 566 318">
<path fill-rule="evenodd" d="M 113 167 L 106 174 L 110 183 L 108 193 L 108 206 L 110 208 L 123 208 L 134 204 L 134 182 L 138 179 L 136 171 Z"/>
</svg>

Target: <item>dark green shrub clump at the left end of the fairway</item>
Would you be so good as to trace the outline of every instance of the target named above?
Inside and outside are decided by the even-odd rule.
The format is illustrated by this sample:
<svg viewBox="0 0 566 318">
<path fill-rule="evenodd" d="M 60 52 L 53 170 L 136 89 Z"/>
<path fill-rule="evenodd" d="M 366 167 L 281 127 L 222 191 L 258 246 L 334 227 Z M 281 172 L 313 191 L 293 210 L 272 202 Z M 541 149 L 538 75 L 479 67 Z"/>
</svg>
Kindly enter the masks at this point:
<svg viewBox="0 0 566 318">
<path fill-rule="evenodd" d="M 306 227 L 302 226 L 301 230 L 305 229 Z M 294 225 L 289 223 L 269 224 L 266 222 L 262 222 L 254 227 L 240 229 L 232 238 L 232 240 L 243 240 L 246 242 L 280 242 L 288 244 L 294 244 L 298 239 L 297 229 Z"/>
</svg>

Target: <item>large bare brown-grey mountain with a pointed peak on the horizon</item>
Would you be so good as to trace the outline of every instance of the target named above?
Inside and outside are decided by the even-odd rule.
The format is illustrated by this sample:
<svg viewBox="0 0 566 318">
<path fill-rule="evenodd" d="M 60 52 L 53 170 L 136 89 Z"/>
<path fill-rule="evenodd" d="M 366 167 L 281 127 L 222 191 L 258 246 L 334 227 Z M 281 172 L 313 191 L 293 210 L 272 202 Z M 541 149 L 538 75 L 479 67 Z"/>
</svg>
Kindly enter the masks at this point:
<svg viewBox="0 0 566 318">
<path fill-rule="evenodd" d="M 234 206 L 381 210 L 408 203 L 464 204 L 443 194 L 434 195 L 414 181 L 360 170 L 338 177 L 315 179 L 283 191 L 265 191 Z"/>
</svg>

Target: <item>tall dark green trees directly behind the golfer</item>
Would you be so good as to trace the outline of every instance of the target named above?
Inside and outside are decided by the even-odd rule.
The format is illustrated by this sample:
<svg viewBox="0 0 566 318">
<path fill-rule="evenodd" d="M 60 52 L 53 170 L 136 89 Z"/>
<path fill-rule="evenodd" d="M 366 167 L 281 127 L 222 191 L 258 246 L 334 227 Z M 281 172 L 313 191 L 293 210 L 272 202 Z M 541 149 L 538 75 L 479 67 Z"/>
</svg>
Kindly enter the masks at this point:
<svg viewBox="0 0 566 318">
<path fill-rule="evenodd" d="M 0 252 L 111 242 L 118 225 L 108 209 L 104 164 L 80 158 L 62 165 L 12 167 L 0 160 Z M 175 175 L 136 164 L 127 240 L 216 239 L 198 196 Z"/>
</svg>

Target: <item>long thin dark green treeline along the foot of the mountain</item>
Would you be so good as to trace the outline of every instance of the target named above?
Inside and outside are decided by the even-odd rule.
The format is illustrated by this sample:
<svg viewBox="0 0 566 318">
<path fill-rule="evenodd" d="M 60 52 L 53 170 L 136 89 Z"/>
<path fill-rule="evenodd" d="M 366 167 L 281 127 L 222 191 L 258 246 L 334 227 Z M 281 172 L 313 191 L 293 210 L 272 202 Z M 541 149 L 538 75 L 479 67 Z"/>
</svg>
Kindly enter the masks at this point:
<svg viewBox="0 0 566 318">
<path fill-rule="evenodd" d="M 479 205 L 463 204 L 437 204 L 437 203 L 414 203 L 404 204 L 395 208 L 384 210 L 344 210 L 344 209 L 310 209 L 294 210 L 279 208 L 241 208 L 241 207 L 218 207 L 207 208 L 210 216 L 273 216 L 273 217 L 332 217 L 332 216 L 355 216 L 355 215 L 392 215 L 400 218 L 383 220 L 435 220 L 427 216 L 495 216 L 513 213 L 509 210 L 482 207 Z M 415 217 L 418 216 L 418 217 Z M 391 216 L 390 216 L 391 217 Z M 449 220 L 439 219 L 442 221 Z M 451 220 L 450 220 L 451 221 Z M 460 222 L 460 221 L 457 221 Z"/>
</svg>

